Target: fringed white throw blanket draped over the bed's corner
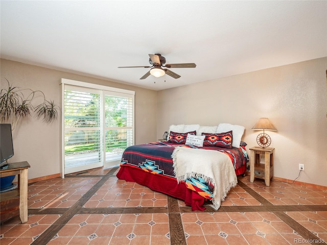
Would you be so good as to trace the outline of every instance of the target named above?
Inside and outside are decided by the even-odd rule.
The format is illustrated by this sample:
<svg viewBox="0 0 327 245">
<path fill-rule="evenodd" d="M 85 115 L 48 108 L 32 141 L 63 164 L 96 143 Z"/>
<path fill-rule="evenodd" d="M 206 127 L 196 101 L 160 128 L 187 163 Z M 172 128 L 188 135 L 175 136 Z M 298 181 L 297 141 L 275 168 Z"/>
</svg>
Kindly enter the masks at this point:
<svg viewBox="0 0 327 245">
<path fill-rule="evenodd" d="M 173 167 L 177 182 L 190 177 L 213 183 L 213 207 L 218 210 L 230 188 L 237 185 L 237 176 L 230 158 L 219 151 L 178 146 L 173 152 Z"/>
</svg>

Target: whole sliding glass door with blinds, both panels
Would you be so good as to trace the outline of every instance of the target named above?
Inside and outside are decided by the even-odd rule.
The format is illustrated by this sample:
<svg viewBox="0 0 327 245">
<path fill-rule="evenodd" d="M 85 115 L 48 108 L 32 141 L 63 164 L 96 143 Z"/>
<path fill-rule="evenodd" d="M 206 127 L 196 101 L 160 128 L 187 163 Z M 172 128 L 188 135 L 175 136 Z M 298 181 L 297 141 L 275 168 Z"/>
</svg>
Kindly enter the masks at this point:
<svg viewBox="0 0 327 245">
<path fill-rule="evenodd" d="M 65 84 L 63 129 L 64 174 L 119 162 L 134 143 L 134 94 Z"/>
</svg>

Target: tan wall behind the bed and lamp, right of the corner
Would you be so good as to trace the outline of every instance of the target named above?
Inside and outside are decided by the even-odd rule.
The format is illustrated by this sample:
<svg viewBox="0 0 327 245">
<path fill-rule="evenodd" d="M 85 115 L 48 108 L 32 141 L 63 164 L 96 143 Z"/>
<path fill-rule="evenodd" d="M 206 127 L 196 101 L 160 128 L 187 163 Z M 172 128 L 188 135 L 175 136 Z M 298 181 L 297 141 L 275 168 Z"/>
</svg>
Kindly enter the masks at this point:
<svg viewBox="0 0 327 245">
<path fill-rule="evenodd" d="M 199 82 L 158 92 L 157 138 L 171 124 L 244 126 L 247 149 L 256 120 L 268 117 L 275 148 L 274 176 L 327 186 L 327 58 Z M 219 67 L 217 67 L 219 69 Z"/>
</svg>

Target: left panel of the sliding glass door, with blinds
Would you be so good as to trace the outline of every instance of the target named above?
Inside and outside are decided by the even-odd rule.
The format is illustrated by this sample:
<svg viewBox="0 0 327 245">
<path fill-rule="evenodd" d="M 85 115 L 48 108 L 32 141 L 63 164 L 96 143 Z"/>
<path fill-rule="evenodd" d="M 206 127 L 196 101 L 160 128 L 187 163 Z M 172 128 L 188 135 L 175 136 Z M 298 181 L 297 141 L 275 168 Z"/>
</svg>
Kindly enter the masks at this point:
<svg viewBox="0 0 327 245">
<path fill-rule="evenodd" d="M 65 173 L 103 166 L 101 94 L 67 87 L 64 91 Z"/>
</svg>

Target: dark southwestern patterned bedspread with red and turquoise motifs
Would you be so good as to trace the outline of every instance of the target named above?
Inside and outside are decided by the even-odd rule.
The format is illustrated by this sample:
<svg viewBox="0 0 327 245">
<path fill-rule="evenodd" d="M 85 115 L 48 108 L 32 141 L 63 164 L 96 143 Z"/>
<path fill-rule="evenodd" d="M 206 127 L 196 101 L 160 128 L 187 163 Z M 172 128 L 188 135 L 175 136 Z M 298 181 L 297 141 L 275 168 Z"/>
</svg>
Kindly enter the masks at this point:
<svg viewBox="0 0 327 245">
<path fill-rule="evenodd" d="M 129 146 L 123 154 L 120 172 L 122 171 L 123 167 L 138 168 L 153 175 L 176 180 L 174 175 L 172 153 L 177 146 L 199 149 L 199 147 L 194 145 L 168 142 L 153 142 Z M 236 170 L 236 174 L 240 175 L 244 173 L 246 169 L 246 162 L 248 161 L 247 152 L 245 151 L 244 146 L 241 146 L 241 148 L 231 149 L 204 146 L 201 147 L 201 149 L 225 153 L 231 159 L 231 162 Z M 120 172 L 117 174 L 118 178 L 122 176 Z M 212 183 L 206 183 L 201 178 L 191 178 L 186 180 L 184 183 L 187 188 L 196 191 L 205 200 L 212 200 L 214 188 Z M 149 187 L 151 188 L 151 186 Z"/>
</svg>

